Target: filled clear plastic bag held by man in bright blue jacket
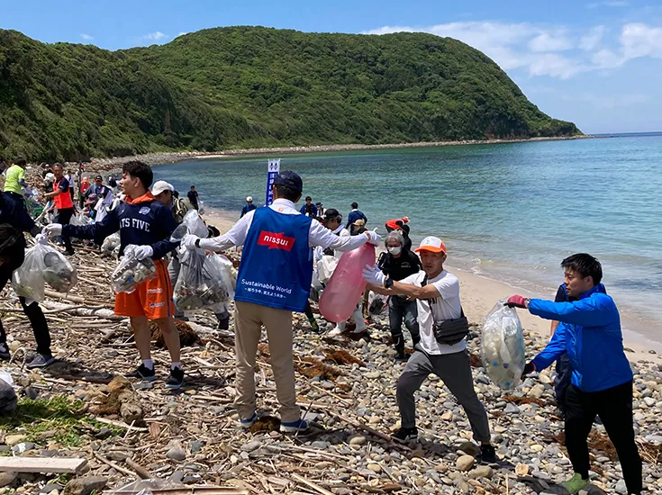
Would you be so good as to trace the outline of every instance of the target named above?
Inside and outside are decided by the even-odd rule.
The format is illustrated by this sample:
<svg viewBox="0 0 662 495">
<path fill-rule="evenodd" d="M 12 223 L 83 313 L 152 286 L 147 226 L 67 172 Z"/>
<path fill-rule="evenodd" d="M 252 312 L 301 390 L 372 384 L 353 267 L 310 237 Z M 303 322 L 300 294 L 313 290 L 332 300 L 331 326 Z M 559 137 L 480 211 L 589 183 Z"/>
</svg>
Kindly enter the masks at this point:
<svg viewBox="0 0 662 495">
<path fill-rule="evenodd" d="M 497 302 L 485 318 L 480 354 L 487 376 L 499 388 L 508 390 L 520 383 L 526 356 L 520 318 L 504 302 Z"/>
</svg>

